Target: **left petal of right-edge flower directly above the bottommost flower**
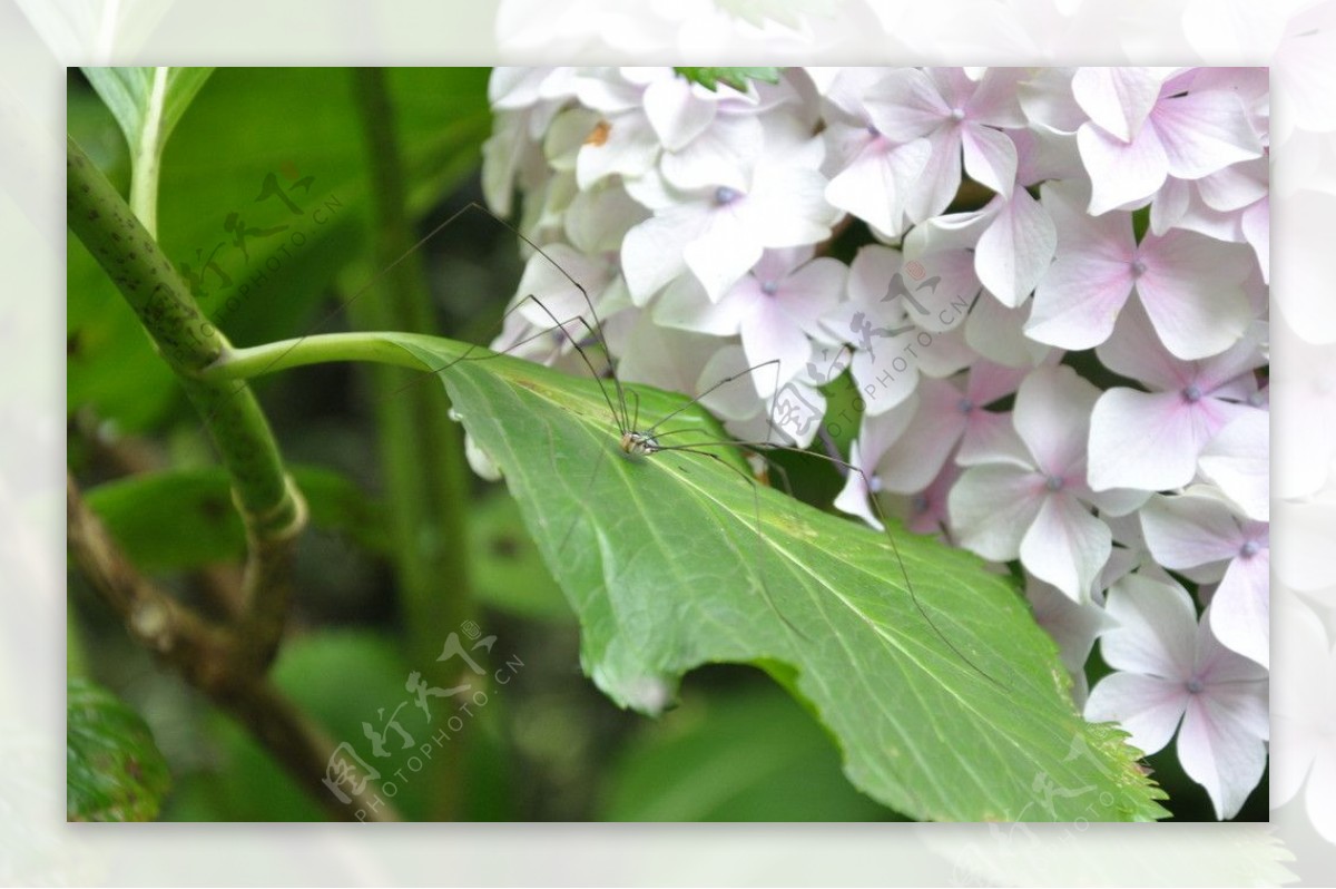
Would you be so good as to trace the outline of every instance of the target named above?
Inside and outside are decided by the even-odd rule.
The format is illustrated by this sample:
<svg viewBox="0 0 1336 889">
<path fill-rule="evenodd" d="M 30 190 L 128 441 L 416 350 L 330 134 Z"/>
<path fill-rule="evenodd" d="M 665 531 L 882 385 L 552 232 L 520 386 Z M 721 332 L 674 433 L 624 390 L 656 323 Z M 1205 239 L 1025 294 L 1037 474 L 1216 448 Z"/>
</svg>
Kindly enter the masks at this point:
<svg viewBox="0 0 1336 889">
<path fill-rule="evenodd" d="M 1156 561 L 1166 568 L 1197 568 L 1238 555 L 1238 520 L 1212 496 L 1154 496 L 1141 509 L 1141 528 Z"/>
</svg>

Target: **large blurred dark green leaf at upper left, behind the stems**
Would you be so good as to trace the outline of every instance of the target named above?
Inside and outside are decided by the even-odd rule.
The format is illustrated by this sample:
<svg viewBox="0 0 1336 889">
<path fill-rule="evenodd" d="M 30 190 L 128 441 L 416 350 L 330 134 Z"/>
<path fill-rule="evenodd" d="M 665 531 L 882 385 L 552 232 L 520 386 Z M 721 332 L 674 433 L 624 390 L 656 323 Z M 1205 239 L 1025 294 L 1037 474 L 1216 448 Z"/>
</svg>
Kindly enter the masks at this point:
<svg viewBox="0 0 1336 889">
<path fill-rule="evenodd" d="M 390 72 L 414 213 L 481 162 L 486 76 L 482 68 Z M 234 342 L 301 333 L 314 302 L 362 255 L 369 179 L 350 78 L 343 68 L 219 70 L 163 152 L 159 241 Z M 68 409 L 148 429 L 179 390 L 76 241 L 67 261 Z"/>
</svg>

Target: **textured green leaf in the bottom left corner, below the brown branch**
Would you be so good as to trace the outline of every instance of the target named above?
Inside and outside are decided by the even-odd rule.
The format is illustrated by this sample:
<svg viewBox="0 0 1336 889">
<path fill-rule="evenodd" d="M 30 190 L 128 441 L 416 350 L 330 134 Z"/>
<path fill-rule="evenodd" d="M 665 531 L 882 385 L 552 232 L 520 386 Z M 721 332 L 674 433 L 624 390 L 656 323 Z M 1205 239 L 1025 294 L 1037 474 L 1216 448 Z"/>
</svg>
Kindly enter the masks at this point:
<svg viewBox="0 0 1336 889">
<path fill-rule="evenodd" d="M 69 821 L 152 821 L 171 786 L 167 761 L 134 710 L 84 679 L 65 699 Z"/>
</svg>

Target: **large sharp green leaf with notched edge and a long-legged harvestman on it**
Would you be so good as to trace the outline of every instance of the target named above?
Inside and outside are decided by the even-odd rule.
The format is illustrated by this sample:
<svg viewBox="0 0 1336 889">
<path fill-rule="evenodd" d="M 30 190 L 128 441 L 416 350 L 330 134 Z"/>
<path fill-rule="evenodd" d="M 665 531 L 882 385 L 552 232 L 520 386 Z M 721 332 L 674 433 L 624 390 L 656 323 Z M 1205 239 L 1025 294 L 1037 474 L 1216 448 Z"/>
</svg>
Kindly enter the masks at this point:
<svg viewBox="0 0 1336 889">
<path fill-rule="evenodd" d="M 379 337 L 424 368 L 465 354 Z M 981 560 L 896 529 L 947 644 L 884 536 L 697 455 L 623 459 L 595 381 L 509 357 L 441 376 L 580 618 L 587 674 L 617 703 L 656 713 L 693 667 L 764 664 L 830 730 L 850 781 L 914 818 L 1164 814 L 1140 753 L 1079 717 L 1057 647 Z M 641 426 L 684 404 L 636 392 Z M 685 426 L 715 428 L 692 406 L 660 432 Z"/>
</svg>

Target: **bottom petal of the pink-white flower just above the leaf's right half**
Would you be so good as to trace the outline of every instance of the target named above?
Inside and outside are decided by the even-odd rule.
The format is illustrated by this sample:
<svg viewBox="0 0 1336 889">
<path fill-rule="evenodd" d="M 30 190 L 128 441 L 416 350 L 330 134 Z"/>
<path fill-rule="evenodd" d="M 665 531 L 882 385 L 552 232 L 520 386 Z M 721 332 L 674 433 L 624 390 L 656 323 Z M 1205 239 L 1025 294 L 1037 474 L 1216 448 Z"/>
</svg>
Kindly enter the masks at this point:
<svg viewBox="0 0 1336 889">
<path fill-rule="evenodd" d="M 1073 602 L 1089 595 L 1113 551 L 1113 533 L 1075 497 L 1053 493 L 1021 540 L 1021 563 Z"/>
</svg>

